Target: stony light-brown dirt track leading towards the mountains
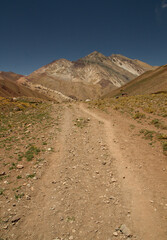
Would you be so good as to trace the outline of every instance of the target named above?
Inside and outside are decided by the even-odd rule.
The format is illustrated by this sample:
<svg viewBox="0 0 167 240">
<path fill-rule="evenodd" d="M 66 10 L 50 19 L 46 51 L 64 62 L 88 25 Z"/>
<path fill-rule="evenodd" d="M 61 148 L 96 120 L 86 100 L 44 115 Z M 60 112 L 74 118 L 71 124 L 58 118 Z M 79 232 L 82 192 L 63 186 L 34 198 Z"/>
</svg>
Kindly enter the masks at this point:
<svg viewBox="0 0 167 240">
<path fill-rule="evenodd" d="M 167 214 L 121 147 L 115 120 L 82 105 L 64 109 L 56 151 L 11 239 L 166 240 Z"/>
</svg>

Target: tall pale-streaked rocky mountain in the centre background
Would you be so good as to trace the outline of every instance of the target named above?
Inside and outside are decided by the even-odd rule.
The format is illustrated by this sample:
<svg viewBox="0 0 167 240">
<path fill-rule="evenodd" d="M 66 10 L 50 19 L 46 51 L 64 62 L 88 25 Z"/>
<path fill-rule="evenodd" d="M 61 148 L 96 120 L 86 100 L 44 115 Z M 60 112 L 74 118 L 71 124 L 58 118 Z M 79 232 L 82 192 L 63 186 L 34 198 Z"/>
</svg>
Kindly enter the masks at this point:
<svg viewBox="0 0 167 240">
<path fill-rule="evenodd" d="M 95 51 L 77 61 L 59 59 L 47 64 L 21 82 L 40 84 L 74 99 L 98 98 L 153 67 L 121 55 L 109 57 Z"/>
</svg>

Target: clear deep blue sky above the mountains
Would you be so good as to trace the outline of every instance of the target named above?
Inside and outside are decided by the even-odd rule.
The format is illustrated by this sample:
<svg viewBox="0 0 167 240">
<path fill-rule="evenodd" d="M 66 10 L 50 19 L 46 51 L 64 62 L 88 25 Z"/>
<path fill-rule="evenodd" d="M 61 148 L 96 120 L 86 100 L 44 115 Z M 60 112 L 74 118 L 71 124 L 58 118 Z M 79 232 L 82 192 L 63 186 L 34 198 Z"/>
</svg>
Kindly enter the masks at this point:
<svg viewBox="0 0 167 240">
<path fill-rule="evenodd" d="M 93 51 L 167 64 L 167 0 L 1 0 L 0 71 Z"/>
</svg>

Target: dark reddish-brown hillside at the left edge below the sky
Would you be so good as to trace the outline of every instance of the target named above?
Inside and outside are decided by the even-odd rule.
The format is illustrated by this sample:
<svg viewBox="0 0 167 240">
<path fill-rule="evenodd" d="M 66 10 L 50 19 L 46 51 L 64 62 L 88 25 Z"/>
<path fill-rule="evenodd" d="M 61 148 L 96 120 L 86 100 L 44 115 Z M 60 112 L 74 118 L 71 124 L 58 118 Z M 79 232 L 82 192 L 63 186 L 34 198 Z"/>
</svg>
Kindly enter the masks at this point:
<svg viewBox="0 0 167 240">
<path fill-rule="evenodd" d="M 23 75 L 13 72 L 0 72 L 0 96 L 1 97 L 36 97 L 48 100 L 46 95 L 33 91 L 17 83 Z"/>
</svg>

